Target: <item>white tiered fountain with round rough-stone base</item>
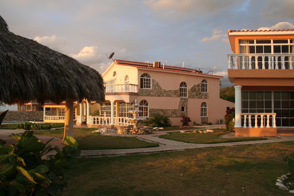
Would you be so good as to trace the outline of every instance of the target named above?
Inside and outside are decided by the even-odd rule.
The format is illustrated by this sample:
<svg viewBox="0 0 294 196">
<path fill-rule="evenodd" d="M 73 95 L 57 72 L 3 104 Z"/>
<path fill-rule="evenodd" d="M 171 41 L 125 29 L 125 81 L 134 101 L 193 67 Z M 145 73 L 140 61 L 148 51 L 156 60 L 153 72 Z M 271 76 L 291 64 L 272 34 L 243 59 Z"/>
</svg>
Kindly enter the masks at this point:
<svg viewBox="0 0 294 196">
<path fill-rule="evenodd" d="M 140 118 L 139 114 L 142 112 L 141 110 L 138 110 L 138 107 L 140 106 L 138 104 L 138 101 L 135 100 L 135 104 L 132 105 L 135 110 L 130 110 L 129 112 L 133 114 L 133 118 L 128 118 L 127 120 L 133 124 L 133 128 L 131 127 L 118 127 L 117 128 L 117 134 L 150 134 L 152 133 L 152 128 L 144 127 L 144 128 L 138 128 L 138 124 L 142 123 L 145 118 Z"/>
</svg>

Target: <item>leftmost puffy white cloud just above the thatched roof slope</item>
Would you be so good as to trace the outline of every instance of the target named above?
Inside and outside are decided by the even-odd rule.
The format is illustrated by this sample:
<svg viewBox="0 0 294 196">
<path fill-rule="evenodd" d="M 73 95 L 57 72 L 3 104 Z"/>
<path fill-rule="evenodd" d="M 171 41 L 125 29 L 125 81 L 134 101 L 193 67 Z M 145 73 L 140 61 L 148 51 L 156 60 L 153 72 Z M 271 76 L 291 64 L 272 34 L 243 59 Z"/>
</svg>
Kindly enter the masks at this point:
<svg viewBox="0 0 294 196">
<path fill-rule="evenodd" d="M 64 48 L 66 45 L 68 45 L 66 37 L 57 37 L 56 35 L 44 37 L 36 36 L 34 40 L 43 44 L 44 46 L 48 46 L 49 48 L 62 53 L 65 53 Z"/>
</svg>

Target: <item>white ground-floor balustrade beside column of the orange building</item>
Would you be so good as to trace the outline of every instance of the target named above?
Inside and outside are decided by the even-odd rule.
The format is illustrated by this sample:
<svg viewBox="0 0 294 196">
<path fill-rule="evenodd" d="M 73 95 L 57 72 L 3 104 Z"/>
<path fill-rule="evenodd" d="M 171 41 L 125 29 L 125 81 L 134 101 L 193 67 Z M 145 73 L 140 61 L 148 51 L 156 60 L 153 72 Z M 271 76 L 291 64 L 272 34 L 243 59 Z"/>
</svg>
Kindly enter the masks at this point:
<svg viewBox="0 0 294 196">
<path fill-rule="evenodd" d="M 276 113 L 241 113 L 241 118 L 244 118 L 243 128 L 270 128 L 270 119 L 273 120 L 273 128 L 276 128 Z M 251 121 L 254 119 L 254 125 L 251 124 Z M 258 125 L 258 119 L 260 119 L 260 123 Z M 266 122 L 265 122 L 266 121 Z"/>
</svg>

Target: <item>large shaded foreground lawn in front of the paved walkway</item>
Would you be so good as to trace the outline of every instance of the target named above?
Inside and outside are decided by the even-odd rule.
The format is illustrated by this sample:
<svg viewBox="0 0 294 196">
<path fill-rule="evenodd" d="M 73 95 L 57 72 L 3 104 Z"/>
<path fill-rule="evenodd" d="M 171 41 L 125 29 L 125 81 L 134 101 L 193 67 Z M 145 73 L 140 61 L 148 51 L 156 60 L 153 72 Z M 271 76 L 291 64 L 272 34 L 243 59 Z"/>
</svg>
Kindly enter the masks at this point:
<svg viewBox="0 0 294 196">
<path fill-rule="evenodd" d="M 65 172 L 63 195 L 289 195 L 275 185 L 294 142 L 100 158 Z"/>
</svg>

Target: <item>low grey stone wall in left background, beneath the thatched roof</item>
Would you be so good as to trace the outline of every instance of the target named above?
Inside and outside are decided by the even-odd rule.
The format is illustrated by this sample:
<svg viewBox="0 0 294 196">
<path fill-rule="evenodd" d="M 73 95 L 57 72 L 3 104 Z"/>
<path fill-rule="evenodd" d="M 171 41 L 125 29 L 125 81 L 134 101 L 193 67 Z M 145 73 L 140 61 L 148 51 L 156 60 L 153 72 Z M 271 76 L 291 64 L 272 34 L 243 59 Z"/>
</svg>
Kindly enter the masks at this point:
<svg viewBox="0 0 294 196">
<path fill-rule="evenodd" d="M 55 116 L 56 111 L 46 111 L 46 115 Z M 5 121 L 43 121 L 43 111 L 8 111 Z"/>
</svg>

